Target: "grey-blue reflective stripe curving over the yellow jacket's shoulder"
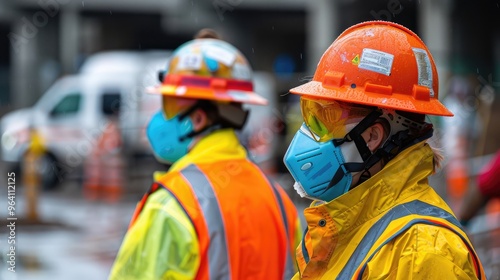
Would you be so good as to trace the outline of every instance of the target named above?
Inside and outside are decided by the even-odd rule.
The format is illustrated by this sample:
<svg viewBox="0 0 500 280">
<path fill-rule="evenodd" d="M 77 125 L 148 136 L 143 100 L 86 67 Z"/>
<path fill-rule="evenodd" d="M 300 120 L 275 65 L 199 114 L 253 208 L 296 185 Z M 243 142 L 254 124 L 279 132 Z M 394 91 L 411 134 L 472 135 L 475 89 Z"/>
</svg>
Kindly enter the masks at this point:
<svg viewBox="0 0 500 280">
<path fill-rule="evenodd" d="M 347 264 L 337 276 L 337 279 L 352 279 L 354 273 L 363 262 L 364 258 L 372 248 L 372 245 L 380 238 L 387 226 L 394 220 L 408 215 L 429 216 L 441 218 L 454 226 L 462 229 L 460 223 L 452 214 L 428 203 L 414 200 L 405 204 L 398 205 L 389 210 L 380 220 L 378 220 L 365 234 L 356 250 L 349 258 Z"/>
</svg>

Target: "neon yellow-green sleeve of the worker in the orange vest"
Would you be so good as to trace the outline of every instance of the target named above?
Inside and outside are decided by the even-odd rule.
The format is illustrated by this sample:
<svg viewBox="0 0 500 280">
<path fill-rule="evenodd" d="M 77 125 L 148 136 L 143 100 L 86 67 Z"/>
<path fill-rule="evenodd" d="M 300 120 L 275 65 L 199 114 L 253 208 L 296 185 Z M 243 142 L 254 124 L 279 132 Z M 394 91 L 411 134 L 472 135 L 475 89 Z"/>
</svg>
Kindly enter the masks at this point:
<svg viewBox="0 0 500 280">
<path fill-rule="evenodd" d="M 194 279 L 199 264 L 189 217 L 169 192 L 159 189 L 125 235 L 109 279 Z"/>
</svg>

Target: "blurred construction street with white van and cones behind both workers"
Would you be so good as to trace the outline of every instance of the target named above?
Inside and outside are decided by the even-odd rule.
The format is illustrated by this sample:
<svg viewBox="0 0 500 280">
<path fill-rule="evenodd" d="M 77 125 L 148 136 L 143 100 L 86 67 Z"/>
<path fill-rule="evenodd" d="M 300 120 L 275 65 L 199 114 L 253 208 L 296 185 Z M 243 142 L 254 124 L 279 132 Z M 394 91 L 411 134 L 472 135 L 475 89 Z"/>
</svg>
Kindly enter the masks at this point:
<svg viewBox="0 0 500 280">
<path fill-rule="evenodd" d="M 145 89 L 201 28 L 250 61 L 271 106 L 252 107 L 240 136 L 306 207 L 282 163 L 301 123 L 287 93 L 312 77 L 344 29 L 367 20 L 403 24 L 434 56 L 439 97 L 455 117 L 431 120 L 446 155 L 431 184 L 459 211 L 500 147 L 498 0 L 0 0 L 0 279 L 107 278 L 152 172 L 168 168 L 144 135 L 159 108 Z M 9 195 L 16 273 L 8 271 Z M 490 201 L 467 228 L 490 277 L 500 275 L 498 205 Z"/>
</svg>

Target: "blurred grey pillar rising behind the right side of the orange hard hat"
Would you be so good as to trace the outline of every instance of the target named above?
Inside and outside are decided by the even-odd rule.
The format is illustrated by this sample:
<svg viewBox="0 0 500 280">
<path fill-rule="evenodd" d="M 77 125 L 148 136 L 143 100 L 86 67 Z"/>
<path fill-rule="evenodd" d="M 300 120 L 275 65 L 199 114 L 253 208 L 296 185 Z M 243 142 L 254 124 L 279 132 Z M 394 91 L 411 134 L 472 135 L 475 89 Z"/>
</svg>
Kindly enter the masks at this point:
<svg viewBox="0 0 500 280">
<path fill-rule="evenodd" d="M 452 2 L 421 0 L 418 8 L 419 36 L 434 57 L 439 75 L 439 98 L 443 99 L 450 75 Z"/>
</svg>

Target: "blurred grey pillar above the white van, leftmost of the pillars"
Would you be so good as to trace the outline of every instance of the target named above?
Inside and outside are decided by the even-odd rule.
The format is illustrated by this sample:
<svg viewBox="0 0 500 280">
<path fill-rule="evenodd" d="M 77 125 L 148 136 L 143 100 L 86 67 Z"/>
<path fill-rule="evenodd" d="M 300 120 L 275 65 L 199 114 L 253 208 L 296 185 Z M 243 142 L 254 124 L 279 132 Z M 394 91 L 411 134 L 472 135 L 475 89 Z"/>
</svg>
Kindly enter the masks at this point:
<svg viewBox="0 0 500 280">
<path fill-rule="evenodd" d="M 61 11 L 59 21 L 59 49 L 61 70 L 63 74 L 75 73 L 80 53 L 80 14 L 78 10 L 68 7 Z"/>
</svg>

